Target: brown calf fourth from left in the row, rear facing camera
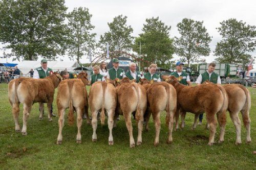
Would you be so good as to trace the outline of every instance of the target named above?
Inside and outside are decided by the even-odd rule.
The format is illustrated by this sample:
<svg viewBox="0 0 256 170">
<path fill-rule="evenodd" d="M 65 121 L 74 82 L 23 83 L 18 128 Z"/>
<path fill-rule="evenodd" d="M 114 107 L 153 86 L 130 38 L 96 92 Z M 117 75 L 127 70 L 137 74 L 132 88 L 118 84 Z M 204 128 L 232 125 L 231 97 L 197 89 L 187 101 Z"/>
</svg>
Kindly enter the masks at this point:
<svg viewBox="0 0 256 170">
<path fill-rule="evenodd" d="M 133 127 L 131 122 L 131 115 L 136 111 L 136 120 L 138 122 L 138 138 L 137 145 L 142 143 L 142 129 L 143 129 L 143 115 L 146 110 L 146 90 L 140 84 L 131 82 L 129 78 L 123 78 L 120 85 L 116 87 L 117 92 L 117 107 L 114 117 L 118 114 L 124 116 L 126 128 L 130 136 L 130 147 L 135 147 L 133 138 Z"/>
</svg>

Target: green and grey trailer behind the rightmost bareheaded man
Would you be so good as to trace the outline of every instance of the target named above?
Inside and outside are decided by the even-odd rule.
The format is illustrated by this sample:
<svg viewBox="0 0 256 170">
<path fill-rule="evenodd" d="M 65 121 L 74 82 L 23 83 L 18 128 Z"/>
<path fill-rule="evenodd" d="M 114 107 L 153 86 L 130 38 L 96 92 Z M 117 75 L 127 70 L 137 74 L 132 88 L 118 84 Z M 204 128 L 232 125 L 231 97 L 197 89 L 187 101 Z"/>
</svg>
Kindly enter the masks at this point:
<svg viewBox="0 0 256 170">
<path fill-rule="evenodd" d="M 208 69 L 208 66 L 209 64 L 207 63 L 199 64 L 199 74 L 203 74 Z M 216 72 L 220 78 L 236 77 L 237 66 L 236 64 L 216 63 L 214 72 Z"/>
</svg>

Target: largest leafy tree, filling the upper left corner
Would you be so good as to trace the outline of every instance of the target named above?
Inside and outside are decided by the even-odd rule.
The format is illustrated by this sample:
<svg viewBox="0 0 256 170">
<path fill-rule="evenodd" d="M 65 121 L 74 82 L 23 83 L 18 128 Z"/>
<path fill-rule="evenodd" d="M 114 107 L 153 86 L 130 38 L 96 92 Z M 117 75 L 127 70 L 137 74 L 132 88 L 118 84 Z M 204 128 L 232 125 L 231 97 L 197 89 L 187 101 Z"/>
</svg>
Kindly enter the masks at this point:
<svg viewBox="0 0 256 170">
<path fill-rule="evenodd" d="M 0 1 L 0 41 L 14 60 L 54 60 L 63 54 L 66 10 L 64 0 Z"/>
</svg>

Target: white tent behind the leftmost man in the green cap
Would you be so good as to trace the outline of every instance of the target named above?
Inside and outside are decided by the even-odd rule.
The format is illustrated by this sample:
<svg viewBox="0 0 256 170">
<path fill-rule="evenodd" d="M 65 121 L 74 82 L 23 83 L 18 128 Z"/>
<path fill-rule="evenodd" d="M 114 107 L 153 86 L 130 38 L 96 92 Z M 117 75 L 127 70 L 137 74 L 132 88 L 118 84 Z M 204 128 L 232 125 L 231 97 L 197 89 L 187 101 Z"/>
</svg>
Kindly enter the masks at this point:
<svg viewBox="0 0 256 170">
<path fill-rule="evenodd" d="M 40 67 L 40 61 L 22 61 L 19 62 L 17 67 L 23 74 L 28 74 L 30 69 L 33 70 L 37 67 Z M 74 68 L 79 67 L 80 65 L 76 61 L 48 61 L 48 67 L 53 71 L 62 71 L 67 68 L 68 71 L 73 71 Z"/>
</svg>

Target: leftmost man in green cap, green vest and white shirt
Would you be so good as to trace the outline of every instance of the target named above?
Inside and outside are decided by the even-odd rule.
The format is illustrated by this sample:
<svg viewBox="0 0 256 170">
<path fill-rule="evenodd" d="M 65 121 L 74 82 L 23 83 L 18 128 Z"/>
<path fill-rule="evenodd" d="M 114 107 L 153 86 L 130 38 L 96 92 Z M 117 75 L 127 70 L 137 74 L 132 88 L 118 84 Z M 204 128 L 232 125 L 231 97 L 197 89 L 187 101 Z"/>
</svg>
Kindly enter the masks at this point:
<svg viewBox="0 0 256 170">
<path fill-rule="evenodd" d="M 41 60 L 41 66 L 35 69 L 34 74 L 33 74 L 33 78 L 34 79 L 44 79 L 47 76 L 50 76 L 53 73 L 53 71 L 52 71 L 51 68 L 48 68 L 47 65 L 48 65 L 47 60 L 42 59 Z M 44 105 L 44 104 L 42 104 L 42 105 Z M 40 106 L 39 106 L 39 111 L 40 111 Z M 51 115 L 53 117 L 56 117 L 56 115 L 53 114 L 53 108 L 52 107 L 51 107 Z"/>
</svg>

